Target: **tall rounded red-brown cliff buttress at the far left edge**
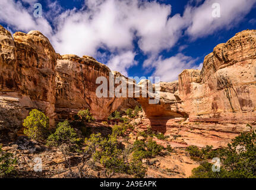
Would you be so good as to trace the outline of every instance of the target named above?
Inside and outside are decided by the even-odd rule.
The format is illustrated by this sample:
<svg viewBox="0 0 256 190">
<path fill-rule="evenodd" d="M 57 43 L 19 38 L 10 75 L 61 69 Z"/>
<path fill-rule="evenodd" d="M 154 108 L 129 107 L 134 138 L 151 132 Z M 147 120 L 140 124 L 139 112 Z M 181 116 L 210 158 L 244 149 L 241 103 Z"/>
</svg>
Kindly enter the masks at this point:
<svg viewBox="0 0 256 190">
<path fill-rule="evenodd" d="M 52 118 L 56 54 L 49 40 L 39 31 L 13 39 L 0 26 L 0 47 L 0 130 L 17 132 L 32 107 Z"/>
</svg>

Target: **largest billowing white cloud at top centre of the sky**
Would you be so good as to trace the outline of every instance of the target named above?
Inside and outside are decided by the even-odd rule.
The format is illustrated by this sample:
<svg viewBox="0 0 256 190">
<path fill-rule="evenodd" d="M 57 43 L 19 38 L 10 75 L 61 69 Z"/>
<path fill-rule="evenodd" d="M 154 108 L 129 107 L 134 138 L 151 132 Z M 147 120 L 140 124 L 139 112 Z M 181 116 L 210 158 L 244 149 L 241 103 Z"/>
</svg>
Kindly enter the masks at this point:
<svg viewBox="0 0 256 190">
<path fill-rule="evenodd" d="M 96 55 L 99 47 L 112 52 L 131 50 L 136 36 L 144 53 L 157 54 L 175 45 L 184 27 L 179 14 L 168 18 L 170 5 L 155 1 L 87 0 L 86 5 L 89 9 L 68 10 L 57 18 L 59 30 L 55 34 L 55 47 L 59 52 Z M 64 37 L 67 34 L 69 36 Z M 74 46 L 81 47 L 77 45 L 79 37 L 84 44 L 83 51 L 74 49 Z"/>
</svg>

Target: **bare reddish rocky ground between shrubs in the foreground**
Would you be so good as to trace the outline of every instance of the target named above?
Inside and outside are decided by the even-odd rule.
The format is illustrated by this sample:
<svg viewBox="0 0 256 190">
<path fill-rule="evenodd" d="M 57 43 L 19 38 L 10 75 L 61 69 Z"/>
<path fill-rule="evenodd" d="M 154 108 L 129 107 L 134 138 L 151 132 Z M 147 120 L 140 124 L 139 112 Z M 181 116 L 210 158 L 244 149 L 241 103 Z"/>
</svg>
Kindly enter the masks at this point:
<svg viewBox="0 0 256 190">
<path fill-rule="evenodd" d="M 94 122 L 89 125 L 90 132 L 110 134 L 110 126 Z M 135 140 L 142 140 L 144 137 L 138 137 L 140 128 L 135 128 L 129 134 L 128 138 L 119 137 L 118 141 L 122 145 L 132 145 Z M 177 139 L 169 137 L 166 140 L 153 138 L 157 144 L 166 147 L 168 144 L 173 147 L 170 153 L 163 150 L 160 156 L 152 159 L 144 159 L 144 166 L 147 166 L 146 178 L 188 178 L 193 168 L 198 167 L 199 163 L 191 160 L 189 154 L 185 151 L 187 145 L 177 143 Z M 2 150 L 14 154 L 17 159 L 15 177 L 18 178 L 108 178 L 105 168 L 93 162 L 89 155 L 84 153 L 71 153 L 64 156 L 61 148 L 50 148 L 44 143 L 30 140 L 27 137 L 20 136 L 14 142 L 5 142 L 2 144 Z M 35 172 L 38 169 L 38 158 L 42 160 L 42 172 Z M 112 178 L 132 178 L 131 175 L 117 173 Z"/>
</svg>

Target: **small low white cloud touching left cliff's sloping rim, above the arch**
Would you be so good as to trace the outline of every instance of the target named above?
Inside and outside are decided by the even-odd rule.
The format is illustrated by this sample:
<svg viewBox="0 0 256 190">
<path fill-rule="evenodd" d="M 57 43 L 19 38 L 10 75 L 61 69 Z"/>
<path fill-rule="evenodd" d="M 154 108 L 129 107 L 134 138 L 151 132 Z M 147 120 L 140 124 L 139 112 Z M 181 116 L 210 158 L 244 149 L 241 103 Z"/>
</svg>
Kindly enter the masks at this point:
<svg viewBox="0 0 256 190">
<path fill-rule="evenodd" d="M 121 72 L 122 75 L 128 77 L 127 69 L 138 64 L 138 62 L 134 61 L 134 56 L 135 53 L 131 51 L 124 52 L 116 56 L 111 56 L 107 65 L 111 71 Z"/>
</svg>

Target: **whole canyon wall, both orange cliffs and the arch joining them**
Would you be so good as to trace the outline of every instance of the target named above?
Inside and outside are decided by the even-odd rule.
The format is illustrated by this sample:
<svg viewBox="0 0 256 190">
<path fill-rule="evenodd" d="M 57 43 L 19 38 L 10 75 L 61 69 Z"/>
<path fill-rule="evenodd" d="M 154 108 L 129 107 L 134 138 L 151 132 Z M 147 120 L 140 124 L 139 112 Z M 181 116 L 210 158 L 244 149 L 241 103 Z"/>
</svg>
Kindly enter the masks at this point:
<svg viewBox="0 0 256 190">
<path fill-rule="evenodd" d="M 256 31 L 246 30 L 216 46 L 201 71 L 188 69 L 178 81 L 160 83 L 157 104 L 141 96 L 98 98 L 96 78 L 109 82 L 106 65 L 90 56 L 55 53 L 39 31 L 12 37 L 0 26 L 0 139 L 14 138 L 34 108 L 45 112 L 55 126 L 79 110 L 88 108 L 96 119 L 106 119 L 116 109 L 123 111 L 138 102 L 145 115 L 138 122 L 141 128 L 150 125 L 173 135 L 178 146 L 224 146 L 239 132 L 255 129 L 255 60 Z M 152 84 L 143 80 L 138 85 Z"/>
</svg>

